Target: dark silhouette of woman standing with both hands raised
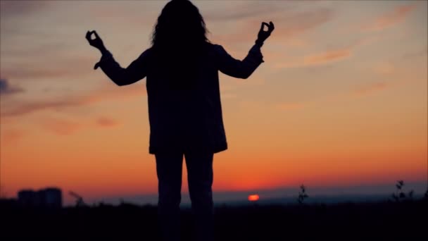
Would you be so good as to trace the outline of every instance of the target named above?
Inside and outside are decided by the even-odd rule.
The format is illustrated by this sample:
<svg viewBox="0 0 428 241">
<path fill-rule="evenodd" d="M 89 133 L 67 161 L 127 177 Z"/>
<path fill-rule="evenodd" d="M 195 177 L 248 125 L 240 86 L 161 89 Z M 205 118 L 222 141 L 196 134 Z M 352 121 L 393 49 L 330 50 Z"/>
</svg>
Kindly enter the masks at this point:
<svg viewBox="0 0 428 241">
<path fill-rule="evenodd" d="M 120 67 L 95 31 L 87 32 L 89 44 L 102 54 L 95 69 L 101 67 L 119 86 L 146 78 L 149 153 L 156 156 L 158 215 L 164 240 L 180 240 L 183 156 L 196 240 L 213 240 L 213 154 L 227 149 L 218 70 L 248 78 L 263 63 L 260 47 L 273 30 L 272 22 L 262 23 L 256 43 L 239 61 L 209 42 L 196 6 L 188 0 L 172 0 L 158 17 L 152 46 L 127 68 Z"/>
</svg>

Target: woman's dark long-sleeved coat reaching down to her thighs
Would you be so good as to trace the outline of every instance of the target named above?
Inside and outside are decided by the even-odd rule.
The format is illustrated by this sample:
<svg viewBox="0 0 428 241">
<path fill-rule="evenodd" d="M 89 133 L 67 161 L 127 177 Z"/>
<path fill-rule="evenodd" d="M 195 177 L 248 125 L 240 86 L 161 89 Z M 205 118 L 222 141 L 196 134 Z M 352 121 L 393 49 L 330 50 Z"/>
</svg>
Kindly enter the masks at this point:
<svg viewBox="0 0 428 241">
<path fill-rule="evenodd" d="M 196 85 L 191 89 L 174 89 L 161 84 L 165 82 L 164 77 L 150 70 L 151 48 L 127 68 L 120 67 L 109 51 L 101 56 L 99 66 L 117 85 L 130 85 L 146 78 L 150 154 L 187 150 L 215 153 L 227 149 L 218 71 L 246 79 L 264 61 L 257 44 L 242 61 L 227 54 L 218 44 L 208 45 L 208 54 L 199 64 Z"/>
</svg>

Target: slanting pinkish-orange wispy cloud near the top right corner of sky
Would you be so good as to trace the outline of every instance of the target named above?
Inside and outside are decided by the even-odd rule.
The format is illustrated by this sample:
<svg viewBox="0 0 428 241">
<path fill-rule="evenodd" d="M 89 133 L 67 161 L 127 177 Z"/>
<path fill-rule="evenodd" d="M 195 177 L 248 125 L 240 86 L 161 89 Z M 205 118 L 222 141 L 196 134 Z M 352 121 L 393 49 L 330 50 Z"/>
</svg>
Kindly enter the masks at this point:
<svg viewBox="0 0 428 241">
<path fill-rule="evenodd" d="M 379 31 L 386 27 L 401 23 L 410 14 L 410 12 L 416 8 L 416 6 L 416 4 L 397 6 L 393 11 L 384 13 L 382 16 L 372 20 L 370 23 L 365 23 L 362 28 L 363 30 Z"/>
</svg>

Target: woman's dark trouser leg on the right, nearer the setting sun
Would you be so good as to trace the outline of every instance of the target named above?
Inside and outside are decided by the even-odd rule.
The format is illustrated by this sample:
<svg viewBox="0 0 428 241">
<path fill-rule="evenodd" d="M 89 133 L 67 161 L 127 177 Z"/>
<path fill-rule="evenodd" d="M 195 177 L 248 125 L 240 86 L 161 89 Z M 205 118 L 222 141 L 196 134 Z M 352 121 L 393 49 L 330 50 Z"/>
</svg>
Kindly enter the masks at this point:
<svg viewBox="0 0 428 241">
<path fill-rule="evenodd" d="M 184 154 L 191 209 L 195 217 L 196 240 L 212 241 L 213 232 L 213 153 Z"/>
</svg>

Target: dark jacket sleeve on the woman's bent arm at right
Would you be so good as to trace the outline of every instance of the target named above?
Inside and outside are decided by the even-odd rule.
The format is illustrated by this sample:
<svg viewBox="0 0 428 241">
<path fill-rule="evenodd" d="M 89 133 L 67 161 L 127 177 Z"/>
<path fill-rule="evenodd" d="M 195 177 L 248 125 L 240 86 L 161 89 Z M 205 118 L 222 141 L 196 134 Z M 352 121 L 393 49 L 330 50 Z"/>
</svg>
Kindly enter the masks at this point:
<svg viewBox="0 0 428 241">
<path fill-rule="evenodd" d="M 247 56 L 242 61 L 227 54 L 222 46 L 215 45 L 215 47 L 218 53 L 218 70 L 234 78 L 248 78 L 264 62 L 260 47 L 256 44 L 248 51 Z"/>
</svg>

